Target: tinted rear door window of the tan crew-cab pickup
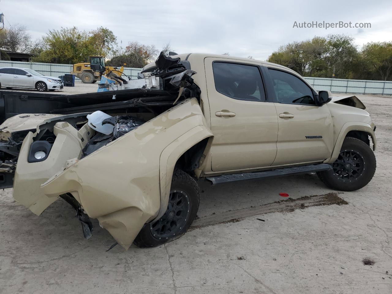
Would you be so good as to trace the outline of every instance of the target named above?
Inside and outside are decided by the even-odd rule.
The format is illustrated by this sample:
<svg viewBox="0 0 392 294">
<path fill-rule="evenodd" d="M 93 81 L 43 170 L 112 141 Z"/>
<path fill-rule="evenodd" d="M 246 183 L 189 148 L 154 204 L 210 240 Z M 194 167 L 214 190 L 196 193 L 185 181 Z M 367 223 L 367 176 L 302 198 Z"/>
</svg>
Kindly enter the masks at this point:
<svg viewBox="0 0 392 294">
<path fill-rule="evenodd" d="M 257 66 L 214 62 L 215 89 L 231 98 L 265 101 L 263 82 Z"/>
</svg>

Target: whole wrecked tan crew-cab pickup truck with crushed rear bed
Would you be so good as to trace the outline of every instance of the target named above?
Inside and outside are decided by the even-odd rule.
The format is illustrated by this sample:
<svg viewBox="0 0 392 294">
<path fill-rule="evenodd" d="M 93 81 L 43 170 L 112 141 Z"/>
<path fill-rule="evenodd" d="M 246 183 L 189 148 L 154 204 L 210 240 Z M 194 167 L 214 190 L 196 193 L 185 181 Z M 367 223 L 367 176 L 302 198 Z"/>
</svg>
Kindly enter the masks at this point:
<svg viewBox="0 0 392 294">
<path fill-rule="evenodd" d="M 14 176 L 14 198 L 39 215 L 60 197 L 86 238 L 97 218 L 128 249 L 184 234 L 202 178 L 317 172 L 353 191 L 374 175 L 376 127 L 356 96 L 332 98 L 286 67 L 213 54 L 161 53 L 140 78 L 6 120 L 1 172 Z"/>
</svg>

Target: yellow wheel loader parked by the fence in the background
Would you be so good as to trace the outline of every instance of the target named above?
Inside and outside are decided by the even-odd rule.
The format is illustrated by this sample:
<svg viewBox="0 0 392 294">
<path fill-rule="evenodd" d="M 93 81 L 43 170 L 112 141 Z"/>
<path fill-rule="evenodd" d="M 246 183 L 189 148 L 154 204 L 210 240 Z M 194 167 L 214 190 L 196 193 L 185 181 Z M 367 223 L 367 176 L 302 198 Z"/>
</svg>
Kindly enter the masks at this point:
<svg viewBox="0 0 392 294">
<path fill-rule="evenodd" d="M 101 79 L 102 74 L 120 76 L 124 67 L 105 66 L 103 56 L 89 56 L 90 62 L 81 62 L 73 65 L 71 74 L 74 74 L 83 83 L 95 83 Z"/>
</svg>

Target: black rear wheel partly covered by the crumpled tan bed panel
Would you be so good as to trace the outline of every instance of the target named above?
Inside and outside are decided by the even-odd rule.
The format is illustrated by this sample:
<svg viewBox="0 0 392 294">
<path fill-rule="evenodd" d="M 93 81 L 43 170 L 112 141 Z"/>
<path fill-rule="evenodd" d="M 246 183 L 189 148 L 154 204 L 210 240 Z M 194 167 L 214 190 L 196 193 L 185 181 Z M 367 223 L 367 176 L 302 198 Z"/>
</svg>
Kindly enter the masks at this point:
<svg viewBox="0 0 392 294">
<path fill-rule="evenodd" d="M 179 238 L 196 218 L 199 204 L 198 183 L 186 172 L 174 169 L 165 214 L 153 223 L 146 223 L 134 244 L 138 247 L 154 247 Z"/>
</svg>

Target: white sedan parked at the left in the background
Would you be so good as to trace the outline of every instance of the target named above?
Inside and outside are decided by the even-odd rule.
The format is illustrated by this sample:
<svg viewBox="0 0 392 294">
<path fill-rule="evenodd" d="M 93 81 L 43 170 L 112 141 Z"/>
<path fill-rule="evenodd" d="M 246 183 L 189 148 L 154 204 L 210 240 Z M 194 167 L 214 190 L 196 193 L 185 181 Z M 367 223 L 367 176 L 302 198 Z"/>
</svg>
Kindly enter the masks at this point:
<svg viewBox="0 0 392 294">
<path fill-rule="evenodd" d="M 37 89 L 40 92 L 63 89 L 62 80 L 20 67 L 0 67 L 0 88 Z"/>
</svg>

